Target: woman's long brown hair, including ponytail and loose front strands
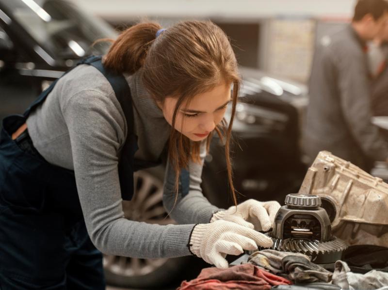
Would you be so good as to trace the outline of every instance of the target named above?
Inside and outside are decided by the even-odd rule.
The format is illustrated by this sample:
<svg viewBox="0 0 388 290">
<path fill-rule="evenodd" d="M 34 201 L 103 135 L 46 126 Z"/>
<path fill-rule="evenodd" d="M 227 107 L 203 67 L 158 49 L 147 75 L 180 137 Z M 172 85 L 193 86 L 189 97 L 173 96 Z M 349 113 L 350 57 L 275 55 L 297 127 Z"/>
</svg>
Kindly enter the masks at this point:
<svg viewBox="0 0 388 290">
<path fill-rule="evenodd" d="M 231 129 L 236 110 L 240 77 L 236 57 L 226 34 L 210 21 L 185 21 L 163 31 L 157 23 L 140 23 L 123 31 L 113 43 L 104 65 L 117 73 L 132 74 L 140 68 L 142 81 L 151 96 L 163 104 L 166 96 L 177 97 L 172 118 L 174 128 L 178 109 L 198 93 L 208 92 L 222 83 L 233 83 L 232 110 L 229 125 L 226 120 L 214 131 L 225 143 L 226 168 L 230 191 L 237 204 L 232 182 L 229 156 Z M 207 138 L 207 150 L 213 132 Z M 176 172 L 178 192 L 179 172 L 190 160 L 200 162 L 200 143 L 191 141 L 172 129 L 168 144 L 171 164 Z M 176 195 L 177 200 L 178 195 Z"/>
</svg>

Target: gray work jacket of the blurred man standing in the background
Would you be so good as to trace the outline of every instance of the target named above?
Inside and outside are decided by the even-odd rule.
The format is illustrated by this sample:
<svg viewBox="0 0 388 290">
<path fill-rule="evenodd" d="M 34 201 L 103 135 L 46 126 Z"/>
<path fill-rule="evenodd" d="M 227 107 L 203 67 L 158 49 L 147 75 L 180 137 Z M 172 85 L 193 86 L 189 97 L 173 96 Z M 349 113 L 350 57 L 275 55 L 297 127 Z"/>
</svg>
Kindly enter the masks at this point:
<svg viewBox="0 0 388 290">
<path fill-rule="evenodd" d="M 314 160 L 321 150 L 370 170 L 386 160 L 388 143 L 371 122 L 365 44 L 352 26 L 320 39 L 310 82 L 304 147 Z"/>
</svg>

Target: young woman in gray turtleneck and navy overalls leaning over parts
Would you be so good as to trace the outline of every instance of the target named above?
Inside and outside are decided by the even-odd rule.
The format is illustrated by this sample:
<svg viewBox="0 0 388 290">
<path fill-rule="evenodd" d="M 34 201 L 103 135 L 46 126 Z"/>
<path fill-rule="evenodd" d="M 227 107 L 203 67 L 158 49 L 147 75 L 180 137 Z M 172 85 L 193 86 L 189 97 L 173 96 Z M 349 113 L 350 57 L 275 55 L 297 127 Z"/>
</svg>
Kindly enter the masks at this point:
<svg viewBox="0 0 388 290">
<path fill-rule="evenodd" d="M 0 288 L 105 289 L 98 250 L 139 258 L 193 254 L 227 267 L 226 254 L 272 245 L 254 224 L 269 230 L 277 202 L 221 210 L 201 192 L 215 132 L 226 140 L 236 204 L 228 144 L 239 82 L 233 50 L 213 23 L 167 30 L 138 24 L 102 60 L 89 58 L 52 84 L 23 116 L 5 118 Z M 133 194 L 133 171 L 163 159 L 163 202 L 179 225 L 125 219 L 121 201 Z"/>
</svg>

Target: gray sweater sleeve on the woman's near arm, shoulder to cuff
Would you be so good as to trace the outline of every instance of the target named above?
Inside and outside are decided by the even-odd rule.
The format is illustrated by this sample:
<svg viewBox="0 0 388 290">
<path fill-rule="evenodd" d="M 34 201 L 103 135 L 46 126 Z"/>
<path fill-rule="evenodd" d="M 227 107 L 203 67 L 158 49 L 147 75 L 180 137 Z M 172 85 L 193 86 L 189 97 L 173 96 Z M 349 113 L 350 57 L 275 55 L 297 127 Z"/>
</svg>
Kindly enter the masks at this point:
<svg viewBox="0 0 388 290">
<path fill-rule="evenodd" d="M 124 218 L 118 152 L 125 119 L 111 98 L 93 90 L 70 97 L 63 108 L 74 172 L 89 236 L 106 254 L 136 258 L 190 255 L 194 225 L 154 225 Z"/>
</svg>

